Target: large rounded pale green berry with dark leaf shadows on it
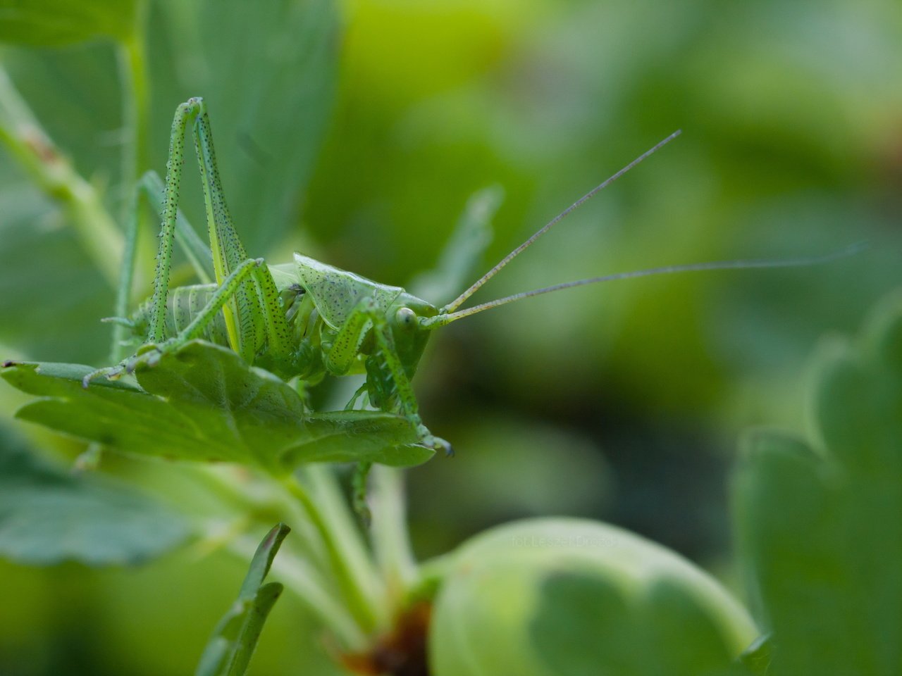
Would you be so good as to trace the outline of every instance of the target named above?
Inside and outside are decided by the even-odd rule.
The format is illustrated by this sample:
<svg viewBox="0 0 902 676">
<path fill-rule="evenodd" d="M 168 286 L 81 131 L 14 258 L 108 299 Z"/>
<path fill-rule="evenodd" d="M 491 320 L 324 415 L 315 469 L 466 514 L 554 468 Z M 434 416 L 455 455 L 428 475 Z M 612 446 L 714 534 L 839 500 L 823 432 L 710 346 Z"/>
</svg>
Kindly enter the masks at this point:
<svg viewBox="0 0 902 676">
<path fill-rule="evenodd" d="M 436 676 L 698 676 L 755 627 L 712 578 L 620 528 L 534 519 L 452 554 L 430 629 Z"/>
</svg>

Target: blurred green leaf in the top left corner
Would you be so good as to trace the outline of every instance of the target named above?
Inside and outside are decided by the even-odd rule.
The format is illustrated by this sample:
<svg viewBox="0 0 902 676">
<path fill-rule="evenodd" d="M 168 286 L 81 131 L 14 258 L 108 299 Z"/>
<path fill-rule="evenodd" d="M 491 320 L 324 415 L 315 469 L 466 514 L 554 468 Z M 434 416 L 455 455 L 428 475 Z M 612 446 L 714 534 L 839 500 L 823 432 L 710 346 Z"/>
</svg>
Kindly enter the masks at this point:
<svg viewBox="0 0 902 676">
<path fill-rule="evenodd" d="M 62 45 L 97 37 L 127 39 L 135 0 L 0 0 L 0 41 Z"/>
</svg>

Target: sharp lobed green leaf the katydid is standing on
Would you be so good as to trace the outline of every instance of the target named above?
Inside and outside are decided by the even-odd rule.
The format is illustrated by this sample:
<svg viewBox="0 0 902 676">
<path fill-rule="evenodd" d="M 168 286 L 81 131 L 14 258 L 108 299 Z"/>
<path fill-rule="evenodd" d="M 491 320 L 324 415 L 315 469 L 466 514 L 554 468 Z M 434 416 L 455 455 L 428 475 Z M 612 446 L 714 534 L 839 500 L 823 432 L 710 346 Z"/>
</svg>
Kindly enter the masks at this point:
<svg viewBox="0 0 902 676">
<path fill-rule="evenodd" d="M 410 466 L 430 449 L 402 416 L 378 411 L 311 413 L 297 391 L 248 367 L 226 348 L 193 341 L 139 368 L 139 385 L 97 379 L 87 366 L 16 363 L 3 371 L 15 388 L 41 397 L 16 416 L 126 453 L 189 461 L 228 461 L 282 474 L 310 461 L 373 461 Z"/>
</svg>

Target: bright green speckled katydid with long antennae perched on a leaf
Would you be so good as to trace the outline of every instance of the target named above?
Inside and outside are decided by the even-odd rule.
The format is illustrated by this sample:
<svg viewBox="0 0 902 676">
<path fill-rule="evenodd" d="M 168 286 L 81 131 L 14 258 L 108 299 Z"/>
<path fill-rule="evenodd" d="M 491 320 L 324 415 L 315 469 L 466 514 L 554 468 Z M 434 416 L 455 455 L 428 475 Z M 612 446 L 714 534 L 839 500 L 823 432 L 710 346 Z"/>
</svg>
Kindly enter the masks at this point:
<svg viewBox="0 0 902 676">
<path fill-rule="evenodd" d="M 193 125 L 200 165 L 216 283 L 174 288 L 170 292 L 172 242 L 189 123 Z M 521 251 L 678 134 L 667 136 L 594 187 L 464 293 L 446 306 L 437 307 L 403 288 L 365 279 L 300 253 L 295 253 L 290 263 L 272 266 L 265 265 L 262 259 L 248 257 L 226 206 L 207 107 L 202 99 L 191 98 L 179 105 L 172 123 L 153 295 L 130 319 L 115 320 L 132 328 L 143 339 L 143 345 L 117 366 L 88 374 L 83 384 L 87 388 L 91 379 L 101 376 L 115 379 L 139 365 L 152 366 L 162 354 L 175 351 L 192 339 L 205 338 L 231 347 L 249 364 L 271 370 L 284 379 L 297 377 L 314 384 L 327 374 L 363 373 L 364 386 L 354 394 L 348 407 L 354 406 L 360 397 L 366 397 L 371 406 L 404 416 L 416 429 L 422 445 L 450 453 L 450 444 L 423 425 L 410 386 L 428 336 L 437 327 L 525 297 L 595 282 L 694 270 L 787 267 L 843 255 L 796 260 L 731 260 L 645 269 L 538 288 L 460 309 Z"/>
</svg>

